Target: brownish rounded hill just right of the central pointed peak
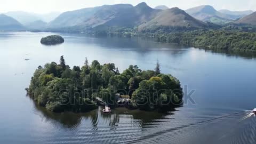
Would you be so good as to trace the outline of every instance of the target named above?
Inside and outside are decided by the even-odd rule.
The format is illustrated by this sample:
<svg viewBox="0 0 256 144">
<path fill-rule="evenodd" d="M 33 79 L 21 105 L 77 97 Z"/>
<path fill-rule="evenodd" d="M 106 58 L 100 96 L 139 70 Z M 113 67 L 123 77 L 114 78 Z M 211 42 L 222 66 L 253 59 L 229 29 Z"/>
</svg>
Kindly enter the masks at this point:
<svg viewBox="0 0 256 144">
<path fill-rule="evenodd" d="M 161 11 L 152 20 L 139 26 L 139 30 L 153 26 L 173 26 L 173 27 L 206 27 L 207 24 L 191 17 L 188 13 L 178 7 Z"/>
</svg>

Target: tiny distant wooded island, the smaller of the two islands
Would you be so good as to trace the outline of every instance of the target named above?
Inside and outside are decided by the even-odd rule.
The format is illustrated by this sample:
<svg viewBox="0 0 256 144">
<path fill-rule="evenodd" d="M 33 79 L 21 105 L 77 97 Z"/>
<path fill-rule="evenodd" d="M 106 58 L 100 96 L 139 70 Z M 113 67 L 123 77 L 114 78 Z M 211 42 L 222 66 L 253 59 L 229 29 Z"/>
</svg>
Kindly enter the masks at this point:
<svg viewBox="0 0 256 144">
<path fill-rule="evenodd" d="M 44 45 L 55 45 L 64 43 L 64 38 L 59 35 L 51 35 L 41 38 L 41 44 Z"/>
</svg>

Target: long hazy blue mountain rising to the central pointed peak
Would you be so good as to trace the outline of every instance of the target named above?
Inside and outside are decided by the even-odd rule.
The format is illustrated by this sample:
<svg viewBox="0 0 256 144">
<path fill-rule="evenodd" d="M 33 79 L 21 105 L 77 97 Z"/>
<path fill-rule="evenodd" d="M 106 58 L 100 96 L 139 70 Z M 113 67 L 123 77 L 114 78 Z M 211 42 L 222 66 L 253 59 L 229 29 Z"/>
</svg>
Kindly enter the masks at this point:
<svg viewBox="0 0 256 144">
<path fill-rule="evenodd" d="M 152 9 L 146 3 L 136 6 L 131 4 L 103 5 L 62 13 L 50 22 L 47 28 L 134 27 L 153 19 L 158 12 L 159 10 Z"/>
</svg>

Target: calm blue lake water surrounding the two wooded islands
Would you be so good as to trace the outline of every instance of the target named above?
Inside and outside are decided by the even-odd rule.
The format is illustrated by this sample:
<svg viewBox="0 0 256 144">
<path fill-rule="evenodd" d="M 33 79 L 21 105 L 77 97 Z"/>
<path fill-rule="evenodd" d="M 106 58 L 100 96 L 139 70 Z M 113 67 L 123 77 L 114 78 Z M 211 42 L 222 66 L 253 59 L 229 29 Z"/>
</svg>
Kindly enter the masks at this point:
<svg viewBox="0 0 256 144">
<path fill-rule="evenodd" d="M 0 143 L 256 143 L 256 117 L 244 118 L 256 107 L 253 55 L 65 34 L 61 45 L 41 45 L 47 35 L 0 33 Z M 71 67 L 87 57 L 115 63 L 120 71 L 129 65 L 154 69 L 158 59 L 162 73 L 179 78 L 185 98 L 193 101 L 169 113 L 118 108 L 102 114 L 101 107 L 51 113 L 35 106 L 25 88 L 39 65 L 58 62 L 60 55 Z"/>
</svg>

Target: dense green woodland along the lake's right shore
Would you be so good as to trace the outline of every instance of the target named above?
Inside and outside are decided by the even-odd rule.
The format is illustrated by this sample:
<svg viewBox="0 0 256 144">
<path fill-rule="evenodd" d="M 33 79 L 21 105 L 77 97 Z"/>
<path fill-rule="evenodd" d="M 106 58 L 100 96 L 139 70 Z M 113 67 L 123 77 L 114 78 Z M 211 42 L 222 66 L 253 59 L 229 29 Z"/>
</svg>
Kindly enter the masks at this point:
<svg viewBox="0 0 256 144">
<path fill-rule="evenodd" d="M 154 34 L 158 42 L 178 43 L 209 50 L 256 51 L 256 33 L 234 30 L 195 30 L 185 33 Z"/>
</svg>

